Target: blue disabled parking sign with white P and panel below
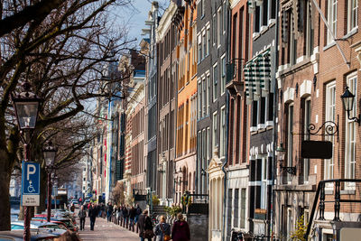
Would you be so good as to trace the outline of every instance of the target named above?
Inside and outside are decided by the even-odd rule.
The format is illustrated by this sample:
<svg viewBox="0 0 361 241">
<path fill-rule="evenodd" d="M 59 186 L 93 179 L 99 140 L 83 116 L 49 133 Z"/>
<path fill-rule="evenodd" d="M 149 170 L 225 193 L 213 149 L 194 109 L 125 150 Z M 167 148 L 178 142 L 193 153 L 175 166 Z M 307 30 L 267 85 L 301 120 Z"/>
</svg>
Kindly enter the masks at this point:
<svg viewBox="0 0 361 241">
<path fill-rule="evenodd" d="M 23 206 L 40 205 L 40 164 L 39 163 L 23 162 L 22 203 Z"/>
</svg>

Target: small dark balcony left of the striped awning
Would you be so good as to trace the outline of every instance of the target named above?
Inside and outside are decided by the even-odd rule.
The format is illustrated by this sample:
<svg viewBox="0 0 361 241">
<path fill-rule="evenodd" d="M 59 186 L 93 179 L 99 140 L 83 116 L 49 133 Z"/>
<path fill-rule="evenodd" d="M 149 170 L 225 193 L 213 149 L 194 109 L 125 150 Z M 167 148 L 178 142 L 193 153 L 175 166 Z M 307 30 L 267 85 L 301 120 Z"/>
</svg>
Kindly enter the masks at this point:
<svg viewBox="0 0 361 241">
<path fill-rule="evenodd" d="M 243 93 L 244 81 L 243 80 L 243 59 L 233 59 L 227 63 L 227 76 L 226 76 L 226 88 L 231 95 L 237 93 Z"/>
</svg>

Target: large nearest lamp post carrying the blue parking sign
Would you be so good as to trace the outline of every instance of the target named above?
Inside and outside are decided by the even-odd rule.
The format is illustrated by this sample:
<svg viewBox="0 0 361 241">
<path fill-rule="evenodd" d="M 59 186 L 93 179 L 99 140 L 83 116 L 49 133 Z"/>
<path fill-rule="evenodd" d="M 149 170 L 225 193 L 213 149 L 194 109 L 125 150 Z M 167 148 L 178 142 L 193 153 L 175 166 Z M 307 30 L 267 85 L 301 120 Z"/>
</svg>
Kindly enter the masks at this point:
<svg viewBox="0 0 361 241">
<path fill-rule="evenodd" d="M 39 105 L 42 102 L 42 99 L 36 97 L 30 89 L 31 85 L 26 81 L 23 83 L 23 92 L 16 96 L 12 95 L 16 121 L 23 140 L 25 162 L 31 161 L 30 141 L 38 118 Z M 23 212 L 23 240 L 28 241 L 30 240 L 30 207 L 24 206 Z"/>
</svg>

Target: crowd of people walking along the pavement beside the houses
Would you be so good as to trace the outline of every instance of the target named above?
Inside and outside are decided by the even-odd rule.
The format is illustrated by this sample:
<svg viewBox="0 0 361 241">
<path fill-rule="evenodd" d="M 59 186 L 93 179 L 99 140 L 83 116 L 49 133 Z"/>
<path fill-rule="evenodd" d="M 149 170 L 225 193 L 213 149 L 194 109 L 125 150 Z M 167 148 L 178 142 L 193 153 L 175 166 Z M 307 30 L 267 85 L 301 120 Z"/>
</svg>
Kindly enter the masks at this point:
<svg viewBox="0 0 361 241">
<path fill-rule="evenodd" d="M 107 222 L 114 222 L 120 227 L 125 227 L 130 231 L 139 234 L 141 241 L 151 241 L 154 237 L 156 241 L 189 241 L 190 227 L 179 213 L 177 220 L 172 224 L 167 223 L 166 218 L 161 216 L 159 223 L 154 224 L 148 215 L 148 210 L 142 210 L 138 204 L 112 205 L 111 202 L 96 204 L 89 203 L 88 206 L 81 206 L 79 209 L 80 230 L 84 230 L 85 219 L 90 218 L 90 230 L 94 230 L 96 218 L 106 218 Z"/>
</svg>

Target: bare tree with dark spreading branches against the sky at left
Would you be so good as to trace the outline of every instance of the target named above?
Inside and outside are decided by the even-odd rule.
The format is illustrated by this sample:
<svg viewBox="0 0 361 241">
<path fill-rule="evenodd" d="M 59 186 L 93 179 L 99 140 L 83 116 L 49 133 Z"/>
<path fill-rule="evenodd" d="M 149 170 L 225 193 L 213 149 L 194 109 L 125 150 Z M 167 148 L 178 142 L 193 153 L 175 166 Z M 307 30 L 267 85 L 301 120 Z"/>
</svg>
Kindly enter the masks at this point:
<svg viewBox="0 0 361 241">
<path fill-rule="evenodd" d="M 34 6 L 47 5 L 36 12 Z M 106 10 L 116 5 L 126 7 L 130 0 L 1 1 L 3 20 L 14 24 L 0 29 L 0 192 L 8 193 L 11 173 L 22 159 L 20 134 L 14 123 L 11 93 L 20 91 L 23 81 L 44 99 L 40 106 L 34 134 L 32 158 L 42 160 L 42 145 L 54 137 L 60 145 L 58 168 L 77 162 L 91 140 L 90 125 L 82 115 L 89 100 L 97 97 L 121 97 L 123 79 L 106 76 L 104 66 L 111 66 L 116 56 L 131 48 L 126 28 L 116 31 L 108 22 Z M 45 7 L 45 6 L 44 6 Z M 35 11 L 25 19 L 22 14 Z M 35 13 L 35 14 L 34 14 Z M 37 13 L 37 14 L 36 14 Z M 5 22 L 2 22 L 2 24 Z M 106 88 L 112 86 L 112 88 Z M 121 95 L 121 94 L 120 94 Z M 79 125 L 84 122 L 84 128 Z M 78 126 L 78 127 L 77 127 Z M 63 139 L 62 139 L 63 138 Z M 65 142 L 67 143 L 65 143 Z M 63 145 L 63 146 L 61 146 Z M 0 197 L 0 230 L 10 229 L 8 195 Z"/>
</svg>

